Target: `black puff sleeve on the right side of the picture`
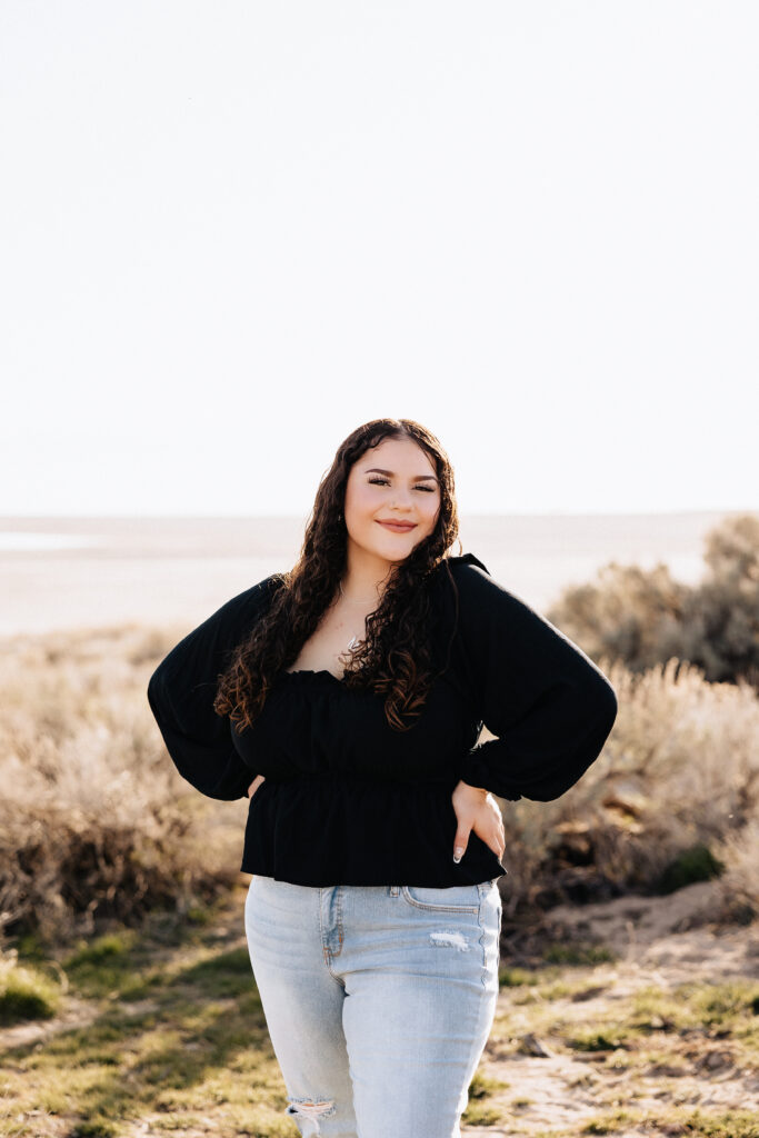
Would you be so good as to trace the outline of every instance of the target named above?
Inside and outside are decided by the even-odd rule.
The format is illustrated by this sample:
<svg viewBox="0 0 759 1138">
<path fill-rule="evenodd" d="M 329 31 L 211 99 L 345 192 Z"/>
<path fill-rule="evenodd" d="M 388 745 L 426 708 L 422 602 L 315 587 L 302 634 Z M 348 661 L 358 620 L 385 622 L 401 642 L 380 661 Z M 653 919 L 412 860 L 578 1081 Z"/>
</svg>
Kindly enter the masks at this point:
<svg viewBox="0 0 759 1138">
<path fill-rule="evenodd" d="M 456 572 L 460 636 L 478 717 L 496 739 L 469 751 L 459 777 L 546 802 L 601 753 L 617 694 L 581 649 L 478 564 Z"/>
</svg>

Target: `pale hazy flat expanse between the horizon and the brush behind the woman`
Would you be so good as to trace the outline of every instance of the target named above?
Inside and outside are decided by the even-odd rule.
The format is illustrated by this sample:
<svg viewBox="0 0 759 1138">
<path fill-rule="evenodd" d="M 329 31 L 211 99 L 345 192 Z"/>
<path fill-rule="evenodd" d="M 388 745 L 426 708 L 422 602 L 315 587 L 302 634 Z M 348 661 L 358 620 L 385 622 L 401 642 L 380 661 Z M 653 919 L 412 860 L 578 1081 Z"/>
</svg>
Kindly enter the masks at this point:
<svg viewBox="0 0 759 1138">
<path fill-rule="evenodd" d="M 461 544 L 544 611 L 611 561 L 695 584 L 728 513 L 464 517 Z M 0 635 L 135 622 L 196 627 L 296 562 L 305 518 L 0 518 Z M 459 546 L 454 546 L 454 553 Z"/>
</svg>

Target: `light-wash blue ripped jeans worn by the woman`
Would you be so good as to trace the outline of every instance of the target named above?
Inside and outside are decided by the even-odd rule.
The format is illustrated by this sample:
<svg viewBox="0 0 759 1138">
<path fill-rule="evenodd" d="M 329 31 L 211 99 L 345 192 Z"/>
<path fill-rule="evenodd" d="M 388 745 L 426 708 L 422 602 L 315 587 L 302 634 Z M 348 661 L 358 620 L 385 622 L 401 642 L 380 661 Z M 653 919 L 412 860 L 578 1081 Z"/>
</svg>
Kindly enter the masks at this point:
<svg viewBox="0 0 759 1138">
<path fill-rule="evenodd" d="M 250 963 L 304 1138 L 459 1138 L 495 1015 L 501 916 L 497 879 L 251 879 Z"/>
</svg>

